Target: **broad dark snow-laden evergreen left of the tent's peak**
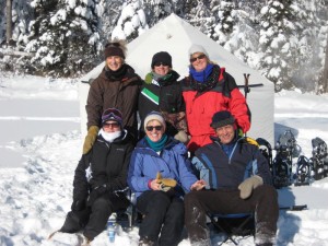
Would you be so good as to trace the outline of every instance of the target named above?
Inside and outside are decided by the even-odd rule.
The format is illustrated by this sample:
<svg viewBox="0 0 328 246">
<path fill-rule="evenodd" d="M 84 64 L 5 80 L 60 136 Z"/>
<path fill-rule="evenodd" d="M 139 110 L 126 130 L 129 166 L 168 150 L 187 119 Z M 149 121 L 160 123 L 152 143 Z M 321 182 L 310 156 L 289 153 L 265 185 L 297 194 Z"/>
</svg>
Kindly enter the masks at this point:
<svg viewBox="0 0 328 246">
<path fill-rule="evenodd" d="M 26 50 L 35 52 L 37 73 L 78 75 L 93 68 L 98 43 L 103 0 L 48 0 L 34 2 L 36 20 Z"/>
</svg>

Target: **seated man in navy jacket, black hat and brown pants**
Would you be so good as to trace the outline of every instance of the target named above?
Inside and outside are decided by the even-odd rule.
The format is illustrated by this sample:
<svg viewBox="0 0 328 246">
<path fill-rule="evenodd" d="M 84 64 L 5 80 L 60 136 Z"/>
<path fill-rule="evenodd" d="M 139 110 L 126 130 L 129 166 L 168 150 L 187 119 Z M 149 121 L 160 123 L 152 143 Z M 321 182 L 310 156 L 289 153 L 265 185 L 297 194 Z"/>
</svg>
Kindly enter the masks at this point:
<svg viewBox="0 0 328 246">
<path fill-rule="evenodd" d="M 211 127 L 216 133 L 213 143 L 198 149 L 192 159 L 208 185 L 185 197 L 185 223 L 191 245 L 211 245 L 207 212 L 255 212 L 255 244 L 273 245 L 279 206 L 267 160 L 257 145 L 238 137 L 230 112 L 215 113 Z"/>
</svg>

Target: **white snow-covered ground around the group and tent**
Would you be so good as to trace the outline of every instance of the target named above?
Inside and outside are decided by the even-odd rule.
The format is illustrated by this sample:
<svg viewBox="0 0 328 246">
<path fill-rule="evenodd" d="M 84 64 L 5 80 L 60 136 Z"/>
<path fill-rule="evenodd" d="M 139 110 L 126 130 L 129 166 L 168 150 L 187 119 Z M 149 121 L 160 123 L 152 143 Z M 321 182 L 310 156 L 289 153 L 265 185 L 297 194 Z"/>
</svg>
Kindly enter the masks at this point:
<svg viewBox="0 0 328 246">
<path fill-rule="evenodd" d="M 0 245 L 78 245 L 77 235 L 48 235 L 70 209 L 73 172 L 81 155 L 78 83 L 36 77 L 0 78 Z M 292 129 L 303 154 L 311 140 L 328 142 L 328 95 L 297 92 L 276 95 L 276 136 Z M 281 206 L 307 204 L 304 211 L 281 211 L 278 246 L 328 245 L 328 178 L 311 186 L 279 190 Z M 221 235 L 213 234 L 213 245 Z M 254 245 L 253 237 L 239 245 Z M 114 245 L 138 244 L 138 227 L 120 231 Z M 110 245 L 102 233 L 92 245 Z M 184 239 L 179 246 L 189 246 Z M 233 245 L 233 244 L 225 244 Z"/>
</svg>

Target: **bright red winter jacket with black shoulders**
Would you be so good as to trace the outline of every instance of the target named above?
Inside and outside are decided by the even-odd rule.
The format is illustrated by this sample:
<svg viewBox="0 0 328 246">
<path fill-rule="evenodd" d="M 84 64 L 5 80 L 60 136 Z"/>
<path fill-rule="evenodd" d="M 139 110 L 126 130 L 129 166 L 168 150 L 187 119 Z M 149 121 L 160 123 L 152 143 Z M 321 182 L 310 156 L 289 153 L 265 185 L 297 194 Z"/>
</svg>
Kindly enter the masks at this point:
<svg viewBox="0 0 328 246">
<path fill-rule="evenodd" d="M 213 69 L 219 67 L 214 66 Z M 181 82 L 188 131 L 191 137 L 188 143 L 189 151 L 195 152 L 198 148 L 212 142 L 210 136 L 215 136 L 215 131 L 210 124 L 216 112 L 231 112 L 243 132 L 249 130 L 250 119 L 246 99 L 234 78 L 226 73 L 224 68 L 221 68 L 218 84 L 209 91 L 196 91 L 190 78 L 185 78 Z"/>
</svg>

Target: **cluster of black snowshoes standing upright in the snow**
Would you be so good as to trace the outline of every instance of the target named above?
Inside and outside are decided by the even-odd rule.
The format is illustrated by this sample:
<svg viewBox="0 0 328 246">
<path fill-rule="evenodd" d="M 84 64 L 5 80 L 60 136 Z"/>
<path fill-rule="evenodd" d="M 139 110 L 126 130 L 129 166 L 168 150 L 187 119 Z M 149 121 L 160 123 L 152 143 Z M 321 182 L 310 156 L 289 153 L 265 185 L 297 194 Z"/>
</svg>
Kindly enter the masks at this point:
<svg viewBox="0 0 328 246">
<path fill-rule="evenodd" d="M 328 148 L 320 138 L 312 140 L 312 157 L 307 159 L 301 154 L 301 147 L 297 144 L 291 130 L 285 130 L 279 137 L 273 159 L 271 144 L 258 138 L 259 150 L 267 159 L 272 174 L 272 183 L 276 188 L 282 188 L 294 184 L 295 186 L 309 185 L 314 179 L 319 180 L 328 177 Z M 297 157 L 296 169 L 293 174 L 293 159 Z"/>
</svg>

